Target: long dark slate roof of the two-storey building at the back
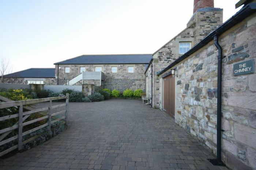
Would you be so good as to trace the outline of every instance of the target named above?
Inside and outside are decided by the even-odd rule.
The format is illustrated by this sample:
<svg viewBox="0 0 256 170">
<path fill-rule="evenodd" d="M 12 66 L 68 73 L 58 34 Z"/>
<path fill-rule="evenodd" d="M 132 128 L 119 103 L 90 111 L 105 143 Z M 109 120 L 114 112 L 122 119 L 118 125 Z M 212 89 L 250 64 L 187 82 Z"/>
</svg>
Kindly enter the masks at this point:
<svg viewBox="0 0 256 170">
<path fill-rule="evenodd" d="M 81 55 L 54 64 L 148 64 L 152 54 Z"/>
</svg>

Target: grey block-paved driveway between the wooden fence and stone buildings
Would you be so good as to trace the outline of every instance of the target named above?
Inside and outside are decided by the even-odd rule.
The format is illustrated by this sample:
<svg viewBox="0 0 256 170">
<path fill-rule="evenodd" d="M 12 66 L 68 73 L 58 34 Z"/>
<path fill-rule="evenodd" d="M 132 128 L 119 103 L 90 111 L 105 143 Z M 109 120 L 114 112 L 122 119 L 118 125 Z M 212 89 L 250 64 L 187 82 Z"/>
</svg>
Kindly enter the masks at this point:
<svg viewBox="0 0 256 170">
<path fill-rule="evenodd" d="M 139 100 L 70 103 L 68 129 L 0 161 L 0 169 L 220 169 L 191 135 Z M 226 168 L 225 168 L 226 169 Z"/>
</svg>

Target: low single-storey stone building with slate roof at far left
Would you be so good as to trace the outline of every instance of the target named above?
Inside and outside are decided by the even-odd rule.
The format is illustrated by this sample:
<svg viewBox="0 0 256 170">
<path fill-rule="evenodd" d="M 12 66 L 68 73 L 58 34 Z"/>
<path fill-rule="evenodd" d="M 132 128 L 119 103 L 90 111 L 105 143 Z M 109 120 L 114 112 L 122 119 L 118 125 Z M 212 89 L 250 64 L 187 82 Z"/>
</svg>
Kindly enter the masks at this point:
<svg viewBox="0 0 256 170">
<path fill-rule="evenodd" d="M 56 84 L 54 68 L 31 68 L 3 76 L 4 83 Z"/>
</svg>

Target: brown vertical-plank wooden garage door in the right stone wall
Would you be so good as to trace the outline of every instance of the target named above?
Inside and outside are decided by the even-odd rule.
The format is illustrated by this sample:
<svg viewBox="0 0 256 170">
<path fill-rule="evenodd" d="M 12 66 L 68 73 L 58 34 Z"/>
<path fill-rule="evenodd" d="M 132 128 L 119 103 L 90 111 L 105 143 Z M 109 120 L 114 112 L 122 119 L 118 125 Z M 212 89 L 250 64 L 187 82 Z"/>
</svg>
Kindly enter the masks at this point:
<svg viewBox="0 0 256 170">
<path fill-rule="evenodd" d="M 164 82 L 164 93 L 163 93 L 163 108 L 165 109 L 166 113 L 170 115 L 171 117 L 174 117 L 175 115 L 175 82 L 174 82 L 173 75 L 167 76 L 163 79 Z"/>
</svg>

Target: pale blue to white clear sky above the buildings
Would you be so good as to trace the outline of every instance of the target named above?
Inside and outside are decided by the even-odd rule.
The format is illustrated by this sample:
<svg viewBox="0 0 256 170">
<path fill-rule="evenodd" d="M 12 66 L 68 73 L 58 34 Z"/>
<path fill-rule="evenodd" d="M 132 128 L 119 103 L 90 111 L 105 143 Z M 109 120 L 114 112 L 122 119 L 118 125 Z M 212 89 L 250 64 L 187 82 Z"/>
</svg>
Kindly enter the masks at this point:
<svg viewBox="0 0 256 170">
<path fill-rule="evenodd" d="M 214 1 L 223 22 L 238 1 Z M 0 57 L 16 72 L 83 54 L 153 54 L 192 14 L 193 0 L 0 0 Z"/>
</svg>

